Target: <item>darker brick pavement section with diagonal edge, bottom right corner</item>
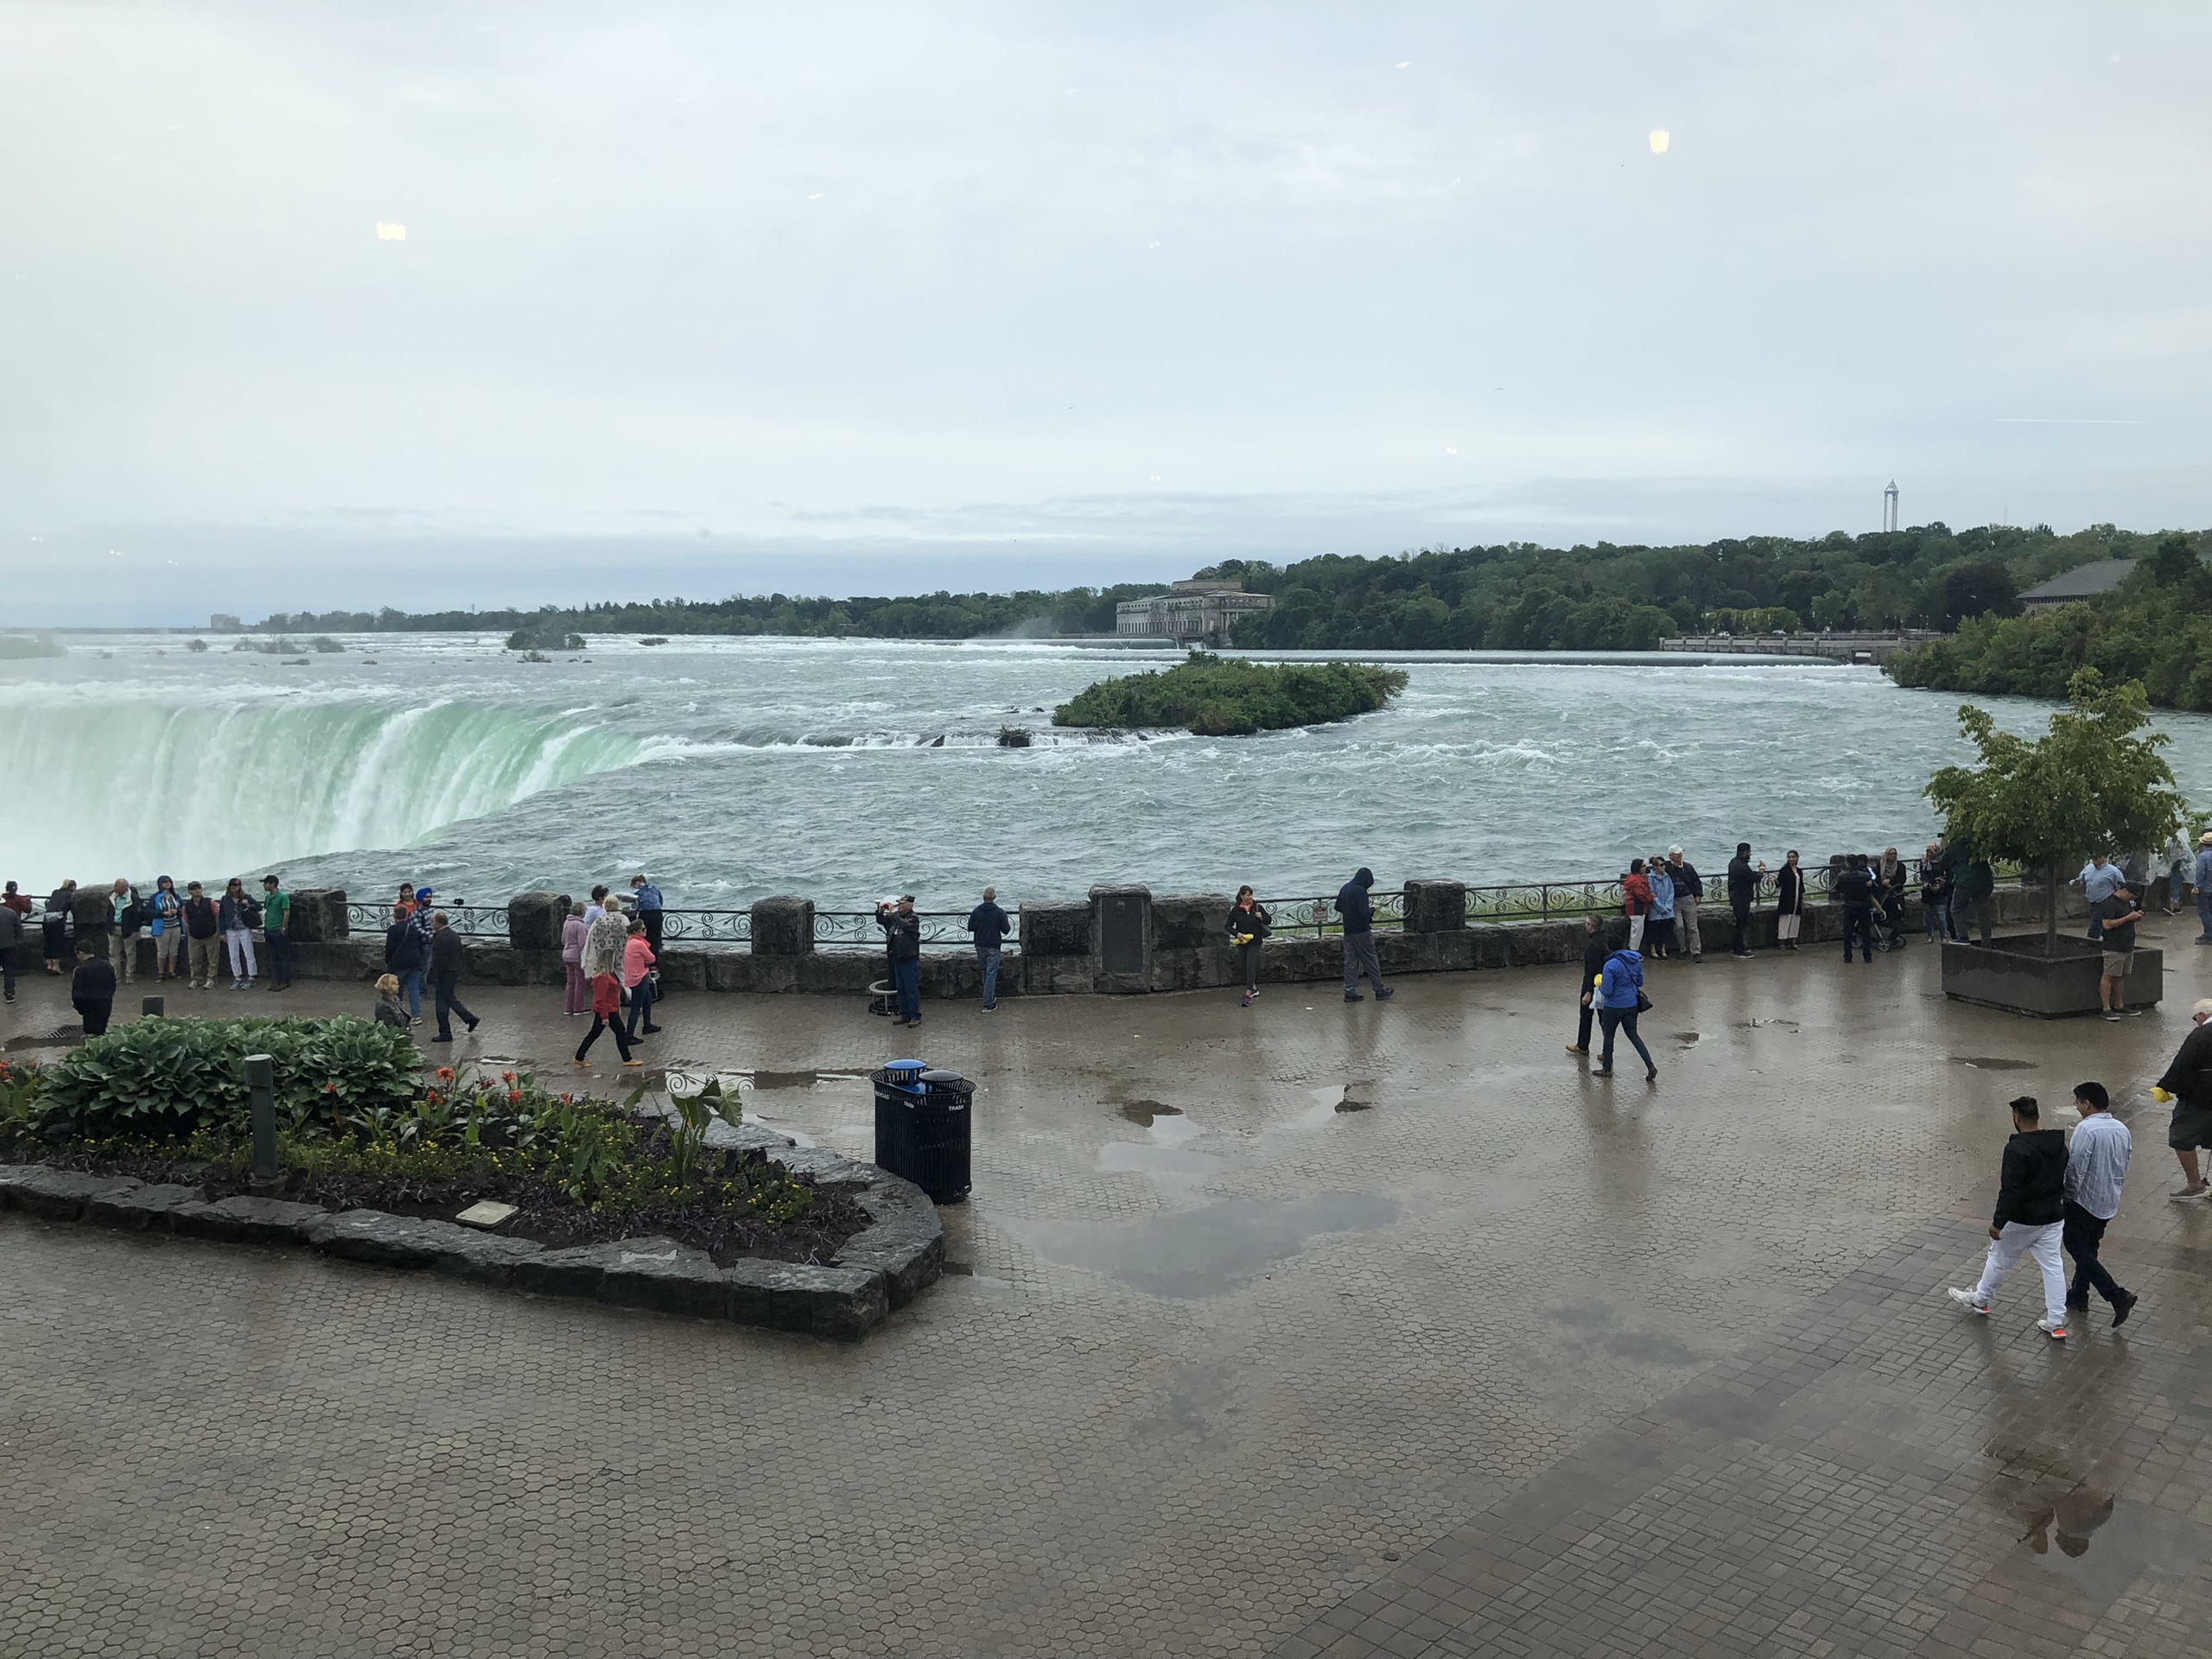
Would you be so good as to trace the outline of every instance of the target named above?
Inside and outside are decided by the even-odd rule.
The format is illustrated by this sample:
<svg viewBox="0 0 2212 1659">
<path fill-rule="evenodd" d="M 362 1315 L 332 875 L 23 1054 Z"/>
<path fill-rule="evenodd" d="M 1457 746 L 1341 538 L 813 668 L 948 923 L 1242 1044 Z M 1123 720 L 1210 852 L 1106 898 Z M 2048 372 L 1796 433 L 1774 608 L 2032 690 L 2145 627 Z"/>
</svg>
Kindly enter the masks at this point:
<svg viewBox="0 0 2212 1659">
<path fill-rule="evenodd" d="M 2205 1252 L 2137 1272 L 2194 1301 L 2194 1345 L 2059 1349 L 1931 1296 L 1975 1248 L 1929 1223 L 1276 1659 L 2212 1650 Z M 1984 1367 L 2011 1376 L 1960 1409 Z"/>
</svg>

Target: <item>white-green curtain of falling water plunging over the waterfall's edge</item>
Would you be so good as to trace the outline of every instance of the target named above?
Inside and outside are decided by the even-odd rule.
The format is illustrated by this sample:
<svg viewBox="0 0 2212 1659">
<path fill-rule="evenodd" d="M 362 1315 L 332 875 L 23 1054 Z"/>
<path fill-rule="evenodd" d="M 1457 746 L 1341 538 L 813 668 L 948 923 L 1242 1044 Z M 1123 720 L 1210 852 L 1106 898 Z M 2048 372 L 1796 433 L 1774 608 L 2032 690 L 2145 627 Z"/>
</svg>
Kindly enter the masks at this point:
<svg viewBox="0 0 2212 1659">
<path fill-rule="evenodd" d="M 635 765 L 641 743 L 580 712 L 487 703 L 69 701 L 0 710 L 15 779 L 7 874 L 254 874 L 325 849 L 407 847 L 564 783 Z"/>
</svg>

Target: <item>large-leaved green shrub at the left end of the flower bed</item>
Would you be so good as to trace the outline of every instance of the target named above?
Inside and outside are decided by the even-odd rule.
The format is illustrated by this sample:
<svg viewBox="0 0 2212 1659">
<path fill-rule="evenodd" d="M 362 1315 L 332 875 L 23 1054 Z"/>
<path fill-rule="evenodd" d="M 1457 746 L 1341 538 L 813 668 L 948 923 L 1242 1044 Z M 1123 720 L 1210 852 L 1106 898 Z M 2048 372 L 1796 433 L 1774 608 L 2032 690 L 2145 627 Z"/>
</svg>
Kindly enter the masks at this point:
<svg viewBox="0 0 2212 1659">
<path fill-rule="evenodd" d="M 422 1093 L 414 1040 L 369 1020 L 133 1020 L 44 1066 L 40 1121 L 49 1139 L 243 1133 L 246 1055 L 274 1062 L 276 1115 L 294 1128 Z"/>
</svg>

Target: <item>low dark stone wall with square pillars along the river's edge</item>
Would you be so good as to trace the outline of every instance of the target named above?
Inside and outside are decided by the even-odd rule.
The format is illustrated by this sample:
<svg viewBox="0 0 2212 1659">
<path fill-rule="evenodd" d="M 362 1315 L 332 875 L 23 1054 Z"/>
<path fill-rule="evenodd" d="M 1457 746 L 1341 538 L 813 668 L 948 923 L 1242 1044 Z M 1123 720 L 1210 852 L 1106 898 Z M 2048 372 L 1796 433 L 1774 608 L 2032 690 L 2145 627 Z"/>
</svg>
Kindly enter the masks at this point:
<svg viewBox="0 0 2212 1659">
<path fill-rule="evenodd" d="M 1405 885 L 1402 931 L 1376 933 L 1385 975 L 1467 973 L 1471 969 L 1528 967 L 1582 960 L 1582 918 L 1557 922 L 1469 922 L 1467 889 L 1449 880 Z M 307 980 L 372 982 L 383 973 L 383 938 L 345 936 L 345 894 L 299 894 L 292 927 L 292 971 Z M 1079 905 L 1024 905 L 1022 949 L 1006 951 L 998 993 L 1093 995 L 1139 991 L 1199 991 L 1239 984 L 1243 969 L 1228 942 L 1228 894 L 1152 894 L 1144 887 L 1097 887 Z M 2077 894 L 2066 894 L 2062 916 L 2086 916 Z M 469 984 L 562 984 L 553 896 L 520 894 L 509 905 L 504 945 L 471 940 Z M 2000 887 L 1991 900 L 2000 927 L 2039 922 L 2044 889 Z M 80 922 L 88 927 L 88 922 Z M 1728 905 L 1705 902 L 1699 927 L 1708 951 L 1725 953 L 1734 933 Z M 1920 902 L 1907 900 L 1905 927 L 1920 931 Z M 1628 922 L 1606 918 L 1608 936 L 1626 942 Z M 1110 936 L 1108 936 L 1110 933 Z M 1843 938 L 1843 911 L 1814 905 L 1805 914 L 1807 945 Z M 1774 907 L 1752 911 L 1752 942 L 1774 945 Z M 1287 984 L 1336 980 L 1345 947 L 1338 938 L 1270 938 L 1261 980 Z M 153 940 L 139 940 L 142 980 L 153 975 Z M 805 898 L 765 898 L 752 907 L 750 949 L 684 949 L 661 953 L 661 978 L 672 991 L 803 991 L 865 995 L 887 973 L 876 951 L 814 949 L 814 905 Z M 973 998 L 982 971 L 973 951 L 925 951 L 922 995 Z"/>
</svg>

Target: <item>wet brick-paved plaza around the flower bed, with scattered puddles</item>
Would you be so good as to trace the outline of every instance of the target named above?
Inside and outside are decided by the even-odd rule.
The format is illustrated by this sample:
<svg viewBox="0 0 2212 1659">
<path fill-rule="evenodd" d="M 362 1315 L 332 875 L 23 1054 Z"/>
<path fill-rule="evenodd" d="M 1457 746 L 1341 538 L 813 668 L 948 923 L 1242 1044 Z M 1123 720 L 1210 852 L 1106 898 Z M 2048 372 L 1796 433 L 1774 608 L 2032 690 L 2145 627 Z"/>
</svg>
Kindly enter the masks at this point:
<svg viewBox="0 0 2212 1659">
<path fill-rule="evenodd" d="M 670 1000 L 657 1064 L 838 1150 L 894 1048 L 982 1079 L 967 1272 L 860 1347 L 9 1217 L 0 1655 L 2201 1655 L 2212 1210 L 2137 1091 L 2212 980 L 2172 933 L 2117 1026 L 1951 1006 L 1924 947 L 1655 967 L 1650 1088 L 1562 1053 L 1571 969 L 916 1044 Z M 458 1057 L 566 1066 L 557 991 L 471 1002 Z M 2143 1303 L 2057 1347 L 2026 1267 L 1986 1323 L 1940 1287 L 2004 1099 L 2079 1077 Z"/>
</svg>

